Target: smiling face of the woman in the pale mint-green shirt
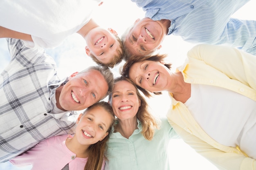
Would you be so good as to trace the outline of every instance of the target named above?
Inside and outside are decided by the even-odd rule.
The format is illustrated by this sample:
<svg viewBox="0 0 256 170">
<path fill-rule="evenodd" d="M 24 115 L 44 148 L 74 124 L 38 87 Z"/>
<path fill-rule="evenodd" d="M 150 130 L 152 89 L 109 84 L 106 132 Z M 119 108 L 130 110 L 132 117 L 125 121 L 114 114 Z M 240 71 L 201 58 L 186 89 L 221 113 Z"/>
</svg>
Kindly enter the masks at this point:
<svg viewBox="0 0 256 170">
<path fill-rule="evenodd" d="M 115 83 L 112 93 L 112 108 L 118 119 L 134 118 L 139 106 L 140 100 L 135 86 L 125 80 Z"/>
</svg>

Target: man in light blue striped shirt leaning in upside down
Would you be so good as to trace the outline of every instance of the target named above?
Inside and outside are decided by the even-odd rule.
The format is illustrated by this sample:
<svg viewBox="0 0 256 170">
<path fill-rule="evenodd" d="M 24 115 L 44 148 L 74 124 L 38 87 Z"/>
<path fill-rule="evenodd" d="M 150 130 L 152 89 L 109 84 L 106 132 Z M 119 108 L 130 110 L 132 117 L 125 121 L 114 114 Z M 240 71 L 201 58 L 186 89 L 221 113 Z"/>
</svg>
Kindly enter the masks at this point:
<svg viewBox="0 0 256 170">
<path fill-rule="evenodd" d="M 122 35 L 126 59 L 160 49 L 166 35 L 195 44 L 223 44 L 256 55 L 256 21 L 231 15 L 249 0 L 132 0 L 145 18 Z"/>
</svg>

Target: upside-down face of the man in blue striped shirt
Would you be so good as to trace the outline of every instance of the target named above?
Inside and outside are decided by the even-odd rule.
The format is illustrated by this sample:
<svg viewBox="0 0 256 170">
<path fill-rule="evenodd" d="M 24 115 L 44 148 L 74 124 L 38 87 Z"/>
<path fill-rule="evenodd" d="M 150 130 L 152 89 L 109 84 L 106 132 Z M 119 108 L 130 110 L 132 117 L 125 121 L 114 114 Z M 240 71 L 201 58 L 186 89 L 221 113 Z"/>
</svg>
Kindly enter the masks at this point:
<svg viewBox="0 0 256 170">
<path fill-rule="evenodd" d="M 133 55 L 148 55 L 161 48 L 164 36 L 164 26 L 160 21 L 138 19 L 126 35 L 125 45 Z"/>
</svg>

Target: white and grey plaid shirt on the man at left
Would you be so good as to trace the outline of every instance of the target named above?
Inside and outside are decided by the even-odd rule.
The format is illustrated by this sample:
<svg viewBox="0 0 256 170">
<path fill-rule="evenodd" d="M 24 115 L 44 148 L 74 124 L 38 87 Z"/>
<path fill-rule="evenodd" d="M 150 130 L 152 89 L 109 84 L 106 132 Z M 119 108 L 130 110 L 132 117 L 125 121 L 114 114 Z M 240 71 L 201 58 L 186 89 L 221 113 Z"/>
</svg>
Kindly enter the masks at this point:
<svg viewBox="0 0 256 170">
<path fill-rule="evenodd" d="M 11 61 L 0 76 L 0 162 L 25 152 L 43 139 L 73 134 L 74 111 L 51 113 L 60 81 L 44 49 L 8 39 Z"/>
</svg>

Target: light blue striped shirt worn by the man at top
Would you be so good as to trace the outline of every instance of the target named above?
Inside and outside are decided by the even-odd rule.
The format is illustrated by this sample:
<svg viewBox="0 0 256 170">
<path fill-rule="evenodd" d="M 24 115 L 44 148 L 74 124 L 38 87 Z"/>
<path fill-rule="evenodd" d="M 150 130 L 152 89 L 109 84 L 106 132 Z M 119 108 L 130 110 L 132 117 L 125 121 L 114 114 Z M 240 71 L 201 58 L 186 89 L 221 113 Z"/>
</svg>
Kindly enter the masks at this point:
<svg viewBox="0 0 256 170">
<path fill-rule="evenodd" d="M 153 20 L 171 20 L 168 35 L 195 44 L 224 44 L 256 55 L 256 21 L 230 18 L 249 0 L 132 0 Z"/>
</svg>

